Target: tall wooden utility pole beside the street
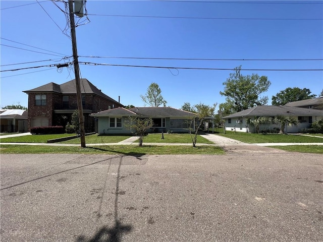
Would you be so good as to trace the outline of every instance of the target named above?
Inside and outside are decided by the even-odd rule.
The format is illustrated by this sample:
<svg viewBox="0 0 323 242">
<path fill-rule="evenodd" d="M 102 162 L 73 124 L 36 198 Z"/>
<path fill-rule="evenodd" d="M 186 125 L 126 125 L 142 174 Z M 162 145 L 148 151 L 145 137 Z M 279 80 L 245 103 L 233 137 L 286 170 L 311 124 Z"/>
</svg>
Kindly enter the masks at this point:
<svg viewBox="0 0 323 242">
<path fill-rule="evenodd" d="M 73 0 L 69 0 L 69 10 L 70 10 L 71 37 L 72 37 L 73 59 L 74 59 L 73 64 L 74 64 L 75 83 L 76 83 L 76 99 L 77 99 L 77 107 L 79 111 L 81 147 L 85 148 L 86 146 L 85 146 L 83 106 L 82 106 L 81 85 L 80 85 L 79 61 L 78 61 L 77 48 L 76 48 Z"/>
</svg>

